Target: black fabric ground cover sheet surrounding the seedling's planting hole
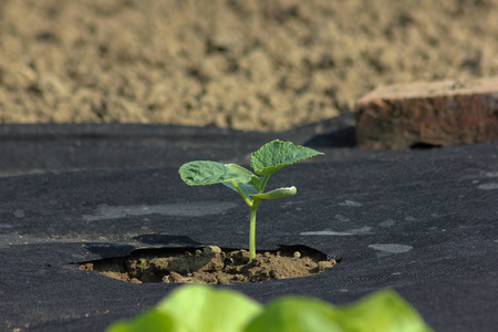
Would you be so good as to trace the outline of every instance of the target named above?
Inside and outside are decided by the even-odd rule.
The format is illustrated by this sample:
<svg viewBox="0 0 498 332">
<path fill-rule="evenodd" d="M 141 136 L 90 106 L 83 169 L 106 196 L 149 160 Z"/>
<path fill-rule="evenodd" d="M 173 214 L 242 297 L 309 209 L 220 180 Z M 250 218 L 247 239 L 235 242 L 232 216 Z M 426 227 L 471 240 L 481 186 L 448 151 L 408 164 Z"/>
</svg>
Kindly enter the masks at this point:
<svg viewBox="0 0 498 332">
<path fill-rule="evenodd" d="M 305 245 L 340 263 L 309 278 L 225 286 L 258 301 L 333 304 L 393 288 L 436 331 L 497 331 L 498 143 L 354 147 L 351 116 L 283 133 L 146 125 L 0 126 L 0 330 L 103 331 L 178 284 L 134 284 L 76 262 L 144 248 L 247 248 L 238 195 L 189 187 L 193 159 L 249 165 L 281 138 L 325 153 L 276 173 L 298 187 L 258 211 L 257 248 Z"/>
</svg>

